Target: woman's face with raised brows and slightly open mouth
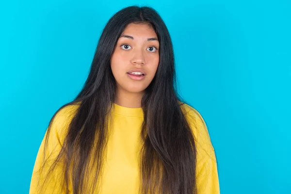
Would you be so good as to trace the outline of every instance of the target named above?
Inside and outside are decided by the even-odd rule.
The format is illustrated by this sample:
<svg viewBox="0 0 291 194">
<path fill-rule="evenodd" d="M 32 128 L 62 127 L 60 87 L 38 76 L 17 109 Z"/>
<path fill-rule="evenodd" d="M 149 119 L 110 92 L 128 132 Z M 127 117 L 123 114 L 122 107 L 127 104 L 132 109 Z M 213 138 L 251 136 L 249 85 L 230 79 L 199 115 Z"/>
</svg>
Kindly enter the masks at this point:
<svg viewBox="0 0 291 194">
<path fill-rule="evenodd" d="M 159 46 L 157 34 L 148 24 L 130 23 L 125 28 L 111 57 L 117 90 L 144 93 L 159 65 Z M 130 74 L 132 71 L 144 75 Z"/>
</svg>

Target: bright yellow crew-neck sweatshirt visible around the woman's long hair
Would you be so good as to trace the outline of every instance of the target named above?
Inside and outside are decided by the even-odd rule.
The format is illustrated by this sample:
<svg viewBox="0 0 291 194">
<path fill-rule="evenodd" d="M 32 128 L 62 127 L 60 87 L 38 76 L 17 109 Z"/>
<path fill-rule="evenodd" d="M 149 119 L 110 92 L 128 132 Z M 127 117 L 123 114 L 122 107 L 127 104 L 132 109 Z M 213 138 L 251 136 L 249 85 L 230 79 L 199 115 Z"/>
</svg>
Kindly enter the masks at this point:
<svg viewBox="0 0 291 194">
<path fill-rule="evenodd" d="M 61 150 L 65 130 L 78 105 L 62 109 L 52 123 L 49 135 L 48 152 L 53 159 Z M 199 113 L 189 105 L 182 105 L 193 129 L 197 149 L 197 189 L 198 194 L 219 194 L 219 180 L 214 148 L 208 129 Z M 138 153 L 141 148 L 140 130 L 143 123 L 142 108 L 127 108 L 117 104 L 113 106 L 112 128 L 107 145 L 107 159 L 104 164 L 101 191 L 98 194 L 138 194 L 139 168 Z M 191 117 L 191 116 L 194 116 Z M 201 116 L 201 115 L 200 115 Z M 44 140 L 39 148 L 30 185 L 30 194 L 37 194 L 37 182 L 43 180 L 37 173 L 43 162 Z M 52 161 L 52 160 L 51 160 Z M 49 169 L 50 161 L 45 167 Z M 46 181 L 46 194 L 65 194 L 60 188 L 62 169 L 56 168 Z M 69 185 L 71 186 L 71 185 Z M 96 192 L 97 194 L 97 192 Z"/>
</svg>

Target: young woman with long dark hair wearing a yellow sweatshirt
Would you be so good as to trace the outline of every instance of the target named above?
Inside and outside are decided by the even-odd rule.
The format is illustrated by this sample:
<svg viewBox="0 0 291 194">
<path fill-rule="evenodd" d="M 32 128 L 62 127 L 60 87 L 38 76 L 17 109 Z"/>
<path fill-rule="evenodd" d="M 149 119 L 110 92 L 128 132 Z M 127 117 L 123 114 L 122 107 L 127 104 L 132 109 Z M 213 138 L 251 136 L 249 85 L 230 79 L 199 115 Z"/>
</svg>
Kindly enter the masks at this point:
<svg viewBox="0 0 291 194">
<path fill-rule="evenodd" d="M 219 194 L 208 129 L 175 79 L 158 13 L 117 12 L 80 94 L 49 122 L 30 194 Z"/>
</svg>

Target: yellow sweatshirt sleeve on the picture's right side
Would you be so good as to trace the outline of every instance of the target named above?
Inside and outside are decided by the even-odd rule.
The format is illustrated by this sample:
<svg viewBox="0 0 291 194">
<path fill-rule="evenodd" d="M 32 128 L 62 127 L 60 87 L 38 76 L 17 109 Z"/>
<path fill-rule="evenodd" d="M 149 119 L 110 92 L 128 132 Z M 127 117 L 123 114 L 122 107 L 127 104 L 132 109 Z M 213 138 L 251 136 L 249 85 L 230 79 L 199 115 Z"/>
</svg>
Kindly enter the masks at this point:
<svg viewBox="0 0 291 194">
<path fill-rule="evenodd" d="M 189 110 L 189 109 L 188 109 Z M 220 194 L 217 161 L 210 135 L 201 114 L 190 107 L 188 114 L 196 143 L 196 181 L 198 194 Z"/>
</svg>

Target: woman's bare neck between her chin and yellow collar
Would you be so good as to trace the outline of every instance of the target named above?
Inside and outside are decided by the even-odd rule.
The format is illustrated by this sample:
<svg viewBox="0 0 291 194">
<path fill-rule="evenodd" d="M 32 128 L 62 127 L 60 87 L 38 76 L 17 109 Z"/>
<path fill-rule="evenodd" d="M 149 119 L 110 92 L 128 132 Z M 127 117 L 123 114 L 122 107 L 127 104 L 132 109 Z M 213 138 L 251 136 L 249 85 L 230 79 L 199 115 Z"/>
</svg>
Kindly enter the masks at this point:
<svg viewBox="0 0 291 194">
<path fill-rule="evenodd" d="M 125 90 L 117 90 L 114 103 L 119 106 L 124 106 L 128 108 L 140 108 L 142 97 L 145 92 L 130 93 Z"/>
</svg>

